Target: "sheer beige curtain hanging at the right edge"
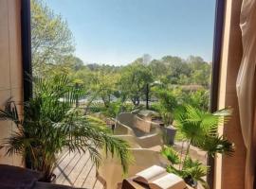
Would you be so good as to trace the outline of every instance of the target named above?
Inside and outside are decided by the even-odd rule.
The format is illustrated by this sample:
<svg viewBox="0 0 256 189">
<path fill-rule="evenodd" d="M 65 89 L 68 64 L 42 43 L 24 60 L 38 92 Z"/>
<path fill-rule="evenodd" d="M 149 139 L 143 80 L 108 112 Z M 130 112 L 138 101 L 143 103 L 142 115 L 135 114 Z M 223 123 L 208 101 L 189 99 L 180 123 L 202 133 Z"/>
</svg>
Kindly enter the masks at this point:
<svg viewBox="0 0 256 189">
<path fill-rule="evenodd" d="M 236 89 L 241 129 L 247 147 L 245 188 L 253 189 L 256 164 L 256 0 L 243 0 L 240 27 L 242 30 L 243 58 Z"/>
</svg>

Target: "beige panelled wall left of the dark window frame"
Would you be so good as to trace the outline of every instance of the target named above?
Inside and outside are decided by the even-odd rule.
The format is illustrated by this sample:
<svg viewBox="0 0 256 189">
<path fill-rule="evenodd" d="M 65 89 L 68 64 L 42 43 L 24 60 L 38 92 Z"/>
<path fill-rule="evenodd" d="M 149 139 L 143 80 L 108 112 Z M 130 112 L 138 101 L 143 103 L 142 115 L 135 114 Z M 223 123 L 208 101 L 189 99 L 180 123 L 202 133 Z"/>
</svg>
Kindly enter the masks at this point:
<svg viewBox="0 0 256 189">
<path fill-rule="evenodd" d="M 22 101 L 22 57 L 20 0 L 0 0 L 0 108 L 12 97 Z M 20 108 L 19 108 L 20 109 Z M 21 113 L 21 112 L 20 112 Z M 0 140 L 9 136 L 14 125 L 0 121 Z M 21 164 L 18 157 L 6 157 L 0 151 L 0 163 Z"/>
</svg>

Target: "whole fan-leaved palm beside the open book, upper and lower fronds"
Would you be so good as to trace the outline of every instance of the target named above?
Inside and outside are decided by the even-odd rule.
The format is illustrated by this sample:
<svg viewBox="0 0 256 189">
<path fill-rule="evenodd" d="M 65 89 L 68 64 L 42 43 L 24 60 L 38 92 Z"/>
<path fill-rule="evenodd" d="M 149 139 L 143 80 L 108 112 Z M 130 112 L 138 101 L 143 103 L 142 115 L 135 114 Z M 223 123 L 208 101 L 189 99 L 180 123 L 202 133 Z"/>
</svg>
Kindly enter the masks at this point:
<svg viewBox="0 0 256 189">
<path fill-rule="evenodd" d="M 199 181 L 205 188 L 209 188 L 203 177 L 207 175 L 210 167 L 192 160 L 190 147 L 197 146 L 206 151 L 209 157 L 215 157 L 216 153 L 231 155 L 233 145 L 217 133 L 219 124 L 227 121 L 229 115 L 229 109 L 213 113 L 191 106 L 179 109 L 174 114 L 175 127 L 188 145 L 184 153 L 183 149 L 177 153 L 171 146 L 163 147 L 161 153 L 170 162 L 167 171 L 179 175 L 192 187 L 196 187 Z"/>
</svg>

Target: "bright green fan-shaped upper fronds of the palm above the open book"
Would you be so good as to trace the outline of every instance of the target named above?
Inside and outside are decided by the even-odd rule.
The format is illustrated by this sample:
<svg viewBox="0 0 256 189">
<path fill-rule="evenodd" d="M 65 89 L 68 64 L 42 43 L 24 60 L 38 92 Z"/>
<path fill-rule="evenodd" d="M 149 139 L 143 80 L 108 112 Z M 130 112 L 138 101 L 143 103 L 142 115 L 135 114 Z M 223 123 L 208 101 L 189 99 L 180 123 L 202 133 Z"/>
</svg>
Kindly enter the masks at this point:
<svg viewBox="0 0 256 189">
<path fill-rule="evenodd" d="M 209 156 L 230 154 L 232 144 L 217 135 L 219 124 L 227 121 L 229 114 L 228 109 L 210 113 L 187 106 L 175 112 L 175 127 L 190 144 L 207 150 Z"/>
</svg>

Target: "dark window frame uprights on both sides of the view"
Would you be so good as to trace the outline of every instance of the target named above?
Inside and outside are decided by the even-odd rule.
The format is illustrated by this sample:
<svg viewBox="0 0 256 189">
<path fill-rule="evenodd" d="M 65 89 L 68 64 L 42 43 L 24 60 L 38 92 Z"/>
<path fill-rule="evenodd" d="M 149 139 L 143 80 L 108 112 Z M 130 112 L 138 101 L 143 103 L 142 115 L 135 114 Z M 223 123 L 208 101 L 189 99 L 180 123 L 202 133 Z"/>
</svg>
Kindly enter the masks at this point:
<svg viewBox="0 0 256 189">
<path fill-rule="evenodd" d="M 213 36 L 213 51 L 212 51 L 212 69 L 211 69 L 211 89 L 210 89 L 210 112 L 217 111 L 218 94 L 219 94 L 219 75 L 221 63 L 221 51 L 223 41 L 223 26 L 225 17 L 226 0 L 216 0 L 215 3 L 215 22 Z M 27 101 L 32 96 L 32 76 L 31 64 L 31 28 L 30 28 L 30 0 L 21 1 L 21 34 L 22 34 L 22 62 L 23 62 L 23 90 L 24 101 Z M 215 160 L 208 158 L 210 165 L 210 173 L 207 181 L 210 188 L 214 186 L 214 166 Z"/>
</svg>

